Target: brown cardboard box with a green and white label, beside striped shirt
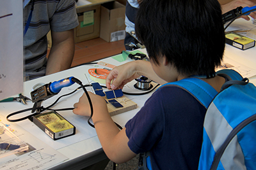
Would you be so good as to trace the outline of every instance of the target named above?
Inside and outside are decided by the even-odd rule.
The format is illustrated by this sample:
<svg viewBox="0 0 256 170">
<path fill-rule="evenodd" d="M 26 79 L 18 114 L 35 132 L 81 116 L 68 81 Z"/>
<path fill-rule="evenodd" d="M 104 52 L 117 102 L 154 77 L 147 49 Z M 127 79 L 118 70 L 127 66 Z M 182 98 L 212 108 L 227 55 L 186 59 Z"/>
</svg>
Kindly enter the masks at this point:
<svg viewBox="0 0 256 170">
<path fill-rule="evenodd" d="M 100 4 L 76 8 L 79 25 L 74 31 L 75 43 L 98 38 L 100 35 Z"/>
</svg>

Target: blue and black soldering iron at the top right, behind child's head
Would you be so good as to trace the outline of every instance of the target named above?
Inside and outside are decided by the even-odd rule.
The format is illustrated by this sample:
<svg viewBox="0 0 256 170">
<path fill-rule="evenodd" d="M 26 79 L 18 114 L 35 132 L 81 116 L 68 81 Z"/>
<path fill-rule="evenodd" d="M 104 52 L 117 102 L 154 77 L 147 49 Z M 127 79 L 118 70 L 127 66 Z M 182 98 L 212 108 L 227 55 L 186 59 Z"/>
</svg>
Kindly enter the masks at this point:
<svg viewBox="0 0 256 170">
<path fill-rule="evenodd" d="M 223 24 L 226 24 L 230 20 L 236 17 L 239 17 L 241 15 L 249 15 L 252 11 L 256 11 L 256 6 L 252 6 L 252 7 L 246 6 L 244 8 L 242 6 L 239 6 L 234 10 L 230 10 L 227 13 L 224 13 L 222 15 Z"/>
</svg>

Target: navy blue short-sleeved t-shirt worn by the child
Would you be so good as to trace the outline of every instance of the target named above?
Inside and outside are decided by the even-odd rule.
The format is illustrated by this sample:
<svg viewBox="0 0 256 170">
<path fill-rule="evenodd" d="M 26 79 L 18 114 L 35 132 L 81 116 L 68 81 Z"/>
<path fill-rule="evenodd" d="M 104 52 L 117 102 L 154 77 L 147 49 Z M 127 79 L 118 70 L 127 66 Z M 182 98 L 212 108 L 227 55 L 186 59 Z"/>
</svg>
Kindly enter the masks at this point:
<svg viewBox="0 0 256 170">
<path fill-rule="evenodd" d="M 197 169 L 206 109 L 185 90 L 165 85 L 125 125 L 134 153 L 150 151 L 152 169 Z"/>
</svg>

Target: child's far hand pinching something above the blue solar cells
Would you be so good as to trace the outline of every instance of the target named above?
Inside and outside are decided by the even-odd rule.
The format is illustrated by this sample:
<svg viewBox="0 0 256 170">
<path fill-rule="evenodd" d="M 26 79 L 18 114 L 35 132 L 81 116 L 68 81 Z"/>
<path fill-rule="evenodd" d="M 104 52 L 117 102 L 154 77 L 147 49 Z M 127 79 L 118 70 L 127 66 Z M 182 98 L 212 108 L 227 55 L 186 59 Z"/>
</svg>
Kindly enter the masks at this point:
<svg viewBox="0 0 256 170">
<path fill-rule="evenodd" d="M 126 83 L 139 76 L 140 74 L 136 70 L 136 61 L 128 62 L 112 69 L 106 78 L 106 86 L 112 90 L 123 89 Z"/>
</svg>

